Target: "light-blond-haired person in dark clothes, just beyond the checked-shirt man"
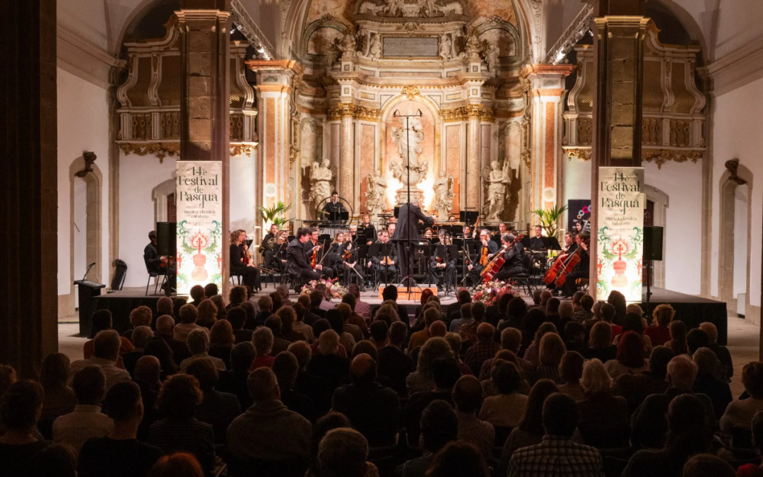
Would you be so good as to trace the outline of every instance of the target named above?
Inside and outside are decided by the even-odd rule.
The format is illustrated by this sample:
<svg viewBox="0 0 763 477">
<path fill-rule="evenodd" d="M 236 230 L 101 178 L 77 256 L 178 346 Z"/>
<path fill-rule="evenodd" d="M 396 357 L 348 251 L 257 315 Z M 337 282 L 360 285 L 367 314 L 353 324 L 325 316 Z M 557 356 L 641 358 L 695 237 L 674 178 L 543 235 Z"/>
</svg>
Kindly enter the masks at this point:
<svg viewBox="0 0 763 477">
<path fill-rule="evenodd" d="M 613 396 L 612 378 L 598 359 L 583 365 L 581 386 L 585 399 L 578 402 L 578 428 L 584 443 L 600 449 L 628 443 L 628 402 Z"/>
</svg>

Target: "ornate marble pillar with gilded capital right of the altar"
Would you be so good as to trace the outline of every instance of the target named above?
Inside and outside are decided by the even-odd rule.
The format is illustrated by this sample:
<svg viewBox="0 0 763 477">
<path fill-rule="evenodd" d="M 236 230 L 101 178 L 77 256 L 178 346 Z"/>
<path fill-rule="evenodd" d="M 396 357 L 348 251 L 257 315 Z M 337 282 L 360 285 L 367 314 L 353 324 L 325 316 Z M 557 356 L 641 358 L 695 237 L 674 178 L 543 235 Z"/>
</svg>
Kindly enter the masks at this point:
<svg viewBox="0 0 763 477">
<path fill-rule="evenodd" d="M 573 65 L 527 65 L 521 76 L 529 82 L 533 108 L 530 125 L 530 210 L 552 208 L 562 197 L 562 98 L 565 78 Z"/>
</svg>

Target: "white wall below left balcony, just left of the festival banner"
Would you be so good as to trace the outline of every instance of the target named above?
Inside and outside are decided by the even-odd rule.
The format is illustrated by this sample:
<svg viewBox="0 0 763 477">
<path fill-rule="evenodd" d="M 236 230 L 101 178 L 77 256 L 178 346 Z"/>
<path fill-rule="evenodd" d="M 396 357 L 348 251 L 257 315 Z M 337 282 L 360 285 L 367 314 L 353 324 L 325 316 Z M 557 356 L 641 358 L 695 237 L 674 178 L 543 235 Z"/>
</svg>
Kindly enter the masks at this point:
<svg viewBox="0 0 763 477">
<path fill-rule="evenodd" d="M 119 258 L 127 263 L 124 286 L 146 286 L 148 272 L 143 263 L 143 248 L 148 233 L 156 227 L 151 192 L 162 182 L 172 179 L 175 158 L 163 163 L 153 155 L 125 156 L 119 160 Z"/>
</svg>

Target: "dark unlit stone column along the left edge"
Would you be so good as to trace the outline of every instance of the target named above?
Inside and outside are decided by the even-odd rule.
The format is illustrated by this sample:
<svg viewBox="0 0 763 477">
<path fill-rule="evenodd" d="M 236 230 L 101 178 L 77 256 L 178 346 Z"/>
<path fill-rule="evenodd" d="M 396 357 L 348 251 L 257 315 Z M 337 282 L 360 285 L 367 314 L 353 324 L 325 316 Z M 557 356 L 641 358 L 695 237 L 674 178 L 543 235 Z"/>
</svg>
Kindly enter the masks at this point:
<svg viewBox="0 0 763 477">
<path fill-rule="evenodd" d="M 58 350 L 56 0 L 0 11 L 0 363 L 33 378 Z"/>
</svg>

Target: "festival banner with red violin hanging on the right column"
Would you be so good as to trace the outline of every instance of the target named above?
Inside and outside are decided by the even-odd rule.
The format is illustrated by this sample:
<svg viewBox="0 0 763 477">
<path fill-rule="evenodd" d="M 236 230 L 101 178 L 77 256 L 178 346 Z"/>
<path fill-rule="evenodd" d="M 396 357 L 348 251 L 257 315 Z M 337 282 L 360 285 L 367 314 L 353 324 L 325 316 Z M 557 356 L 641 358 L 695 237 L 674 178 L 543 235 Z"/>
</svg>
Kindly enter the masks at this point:
<svg viewBox="0 0 763 477">
<path fill-rule="evenodd" d="M 597 204 L 596 298 L 617 290 L 641 301 L 644 245 L 643 167 L 600 167 Z"/>
</svg>

